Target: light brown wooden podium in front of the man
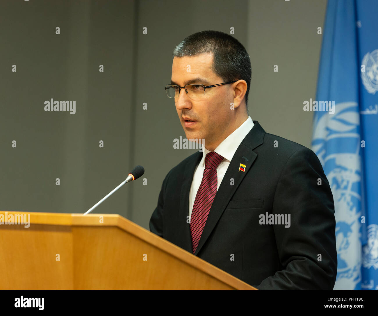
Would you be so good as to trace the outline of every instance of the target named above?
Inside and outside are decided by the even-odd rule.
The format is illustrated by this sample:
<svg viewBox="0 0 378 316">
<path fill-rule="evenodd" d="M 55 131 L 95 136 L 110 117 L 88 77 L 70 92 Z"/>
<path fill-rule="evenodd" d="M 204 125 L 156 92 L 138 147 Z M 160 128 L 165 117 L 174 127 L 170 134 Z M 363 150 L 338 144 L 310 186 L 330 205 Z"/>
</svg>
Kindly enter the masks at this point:
<svg viewBox="0 0 378 316">
<path fill-rule="evenodd" d="M 0 223 L 0 290 L 256 290 L 120 215 L 0 211 Z"/>
</svg>

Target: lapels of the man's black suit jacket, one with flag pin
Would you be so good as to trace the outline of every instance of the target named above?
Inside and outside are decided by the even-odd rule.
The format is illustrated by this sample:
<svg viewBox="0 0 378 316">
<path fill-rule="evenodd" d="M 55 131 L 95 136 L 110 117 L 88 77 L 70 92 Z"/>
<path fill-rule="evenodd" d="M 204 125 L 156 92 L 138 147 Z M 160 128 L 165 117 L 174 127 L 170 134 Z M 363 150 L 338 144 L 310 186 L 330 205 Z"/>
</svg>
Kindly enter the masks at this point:
<svg viewBox="0 0 378 316">
<path fill-rule="evenodd" d="M 253 162 L 255 161 L 257 157 L 257 154 L 253 151 L 253 149 L 255 149 L 257 146 L 263 143 L 265 131 L 260 126 L 259 122 L 257 121 L 253 121 L 253 122 L 254 122 L 254 127 L 249 131 L 247 136 L 245 136 L 242 143 L 237 148 L 227 168 L 225 176 L 223 177 L 223 180 L 220 184 L 218 192 L 215 195 L 214 201 L 212 203 L 212 206 L 209 212 L 208 219 L 206 220 L 206 224 L 201 234 L 200 242 L 198 243 L 197 249 L 195 251 L 195 255 L 197 255 L 198 252 L 201 250 L 202 246 L 208 239 L 212 230 L 215 228 L 215 225 L 217 224 L 219 218 L 222 216 L 223 211 L 225 210 L 227 204 L 231 200 L 232 195 L 234 195 L 235 191 L 239 187 L 239 184 L 242 182 L 243 178 L 252 168 Z M 198 158 L 201 158 L 201 156 L 202 155 L 200 155 Z M 198 162 L 199 161 L 200 160 L 198 160 Z M 241 163 L 246 165 L 245 172 L 243 171 L 239 172 L 239 167 Z M 187 166 L 189 166 L 189 163 L 187 164 Z M 181 201 L 180 201 L 180 210 L 181 210 L 181 207 L 183 207 L 185 208 L 186 213 L 188 212 L 188 207 L 189 207 L 189 189 L 191 186 L 191 181 L 193 179 L 193 173 L 194 173 L 194 167 L 192 167 L 192 164 L 190 164 L 189 168 L 185 170 L 184 184 L 181 190 Z M 230 184 L 231 178 L 234 179 L 234 185 Z M 185 193 L 184 195 L 183 195 L 183 191 Z M 185 203 L 181 203 L 183 200 L 185 201 Z M 185 204 L 185 206 L 182 206 L 181 204 Z M 186 216 L 187 215 L 188 214 L 186 214 Z M 188 251 L 193 251 L 189 224 L 186 224 L 185 234 L 189 236 L 189 241 L 190 241 L 190 250 Z"/>
</svg>

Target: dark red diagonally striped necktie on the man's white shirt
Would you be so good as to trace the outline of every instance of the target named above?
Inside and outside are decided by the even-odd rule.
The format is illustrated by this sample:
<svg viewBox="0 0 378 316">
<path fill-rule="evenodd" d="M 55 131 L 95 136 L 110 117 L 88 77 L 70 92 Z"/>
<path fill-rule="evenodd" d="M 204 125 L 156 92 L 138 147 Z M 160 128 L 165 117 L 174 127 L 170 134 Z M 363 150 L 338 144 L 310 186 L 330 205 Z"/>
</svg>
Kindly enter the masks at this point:
<svg viewBox="0 0 378 316">
<path fill-rule="evenodd" d="M 223 157 L 216 152 L 209 152 L 205 157 L 203 178 L 197 195 L 195 196 L 190 218 L 193 253 L 195 253 L 198 243 L 200 242 L 201 234 L 211 209 L 211 204 L 214 201 L 215 194 L 217 194 L 217 167 L 222 160 Z"/>
</svg>

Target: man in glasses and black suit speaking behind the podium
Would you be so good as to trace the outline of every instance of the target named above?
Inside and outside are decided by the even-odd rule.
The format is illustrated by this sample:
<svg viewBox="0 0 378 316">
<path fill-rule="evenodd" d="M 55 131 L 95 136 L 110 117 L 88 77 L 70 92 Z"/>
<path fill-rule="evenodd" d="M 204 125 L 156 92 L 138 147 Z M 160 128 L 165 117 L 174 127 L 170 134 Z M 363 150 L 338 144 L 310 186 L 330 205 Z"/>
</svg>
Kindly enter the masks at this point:
<svg viewBox="0 0 378 316">
<path fill-rule="evenodd" d="M 150 231 L 258 289 L 332 289 L 329 183 L 313 151 L 248 116 L 250 81 L 248 53 L 228 34 L 175 48 L 167 96 L 204 146 L 167 174 Z"/>
</svg>

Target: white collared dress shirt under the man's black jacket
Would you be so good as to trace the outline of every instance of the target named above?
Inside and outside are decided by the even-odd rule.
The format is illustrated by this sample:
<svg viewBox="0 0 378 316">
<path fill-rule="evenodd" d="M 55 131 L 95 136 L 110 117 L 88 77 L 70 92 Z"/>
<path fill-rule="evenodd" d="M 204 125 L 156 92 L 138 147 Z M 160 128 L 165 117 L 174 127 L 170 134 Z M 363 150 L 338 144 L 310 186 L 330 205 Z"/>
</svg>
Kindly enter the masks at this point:
<svg viewBox="0 0 378 316">
<path fill-rule="evenodd" d="M 253 121 L 251 117 L 248 116 L 248 118 L 242 125 L 240 125 L 236 130 L 234 130 L 234 132 L 228 135 L 228 137 L 225 140 L 223 140 L 217 148 L 215 148 L 214 152 L 218 153 L 219 155 L 225 158 L 217 167 L 217 191 L 219 189 L 220 183 L 223 180 L 223 177 L 225 176 L 226 170 L 231 162 L 232 157 L 234 156 L 237 148 L 242 143 L 243 139 L 245 138 L 245 136 L 247 136 L 247 134 L 253 126 Z M 195 196 L 197 195 L 197 191 L 200 188 L 202 182 L 203 170 L 205 169 L 205 156 L 209 152 L 210 150 L 207 150 L 204 146 L 202 146 L 203 157 L 194 170 L 193 181 L 189 192 L 189 218 L 192 215 Z"/>
</svg>

